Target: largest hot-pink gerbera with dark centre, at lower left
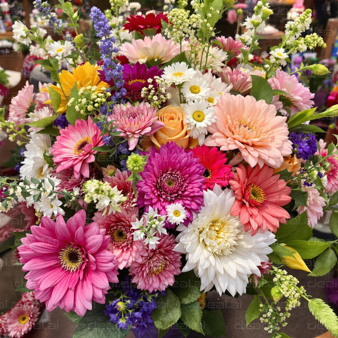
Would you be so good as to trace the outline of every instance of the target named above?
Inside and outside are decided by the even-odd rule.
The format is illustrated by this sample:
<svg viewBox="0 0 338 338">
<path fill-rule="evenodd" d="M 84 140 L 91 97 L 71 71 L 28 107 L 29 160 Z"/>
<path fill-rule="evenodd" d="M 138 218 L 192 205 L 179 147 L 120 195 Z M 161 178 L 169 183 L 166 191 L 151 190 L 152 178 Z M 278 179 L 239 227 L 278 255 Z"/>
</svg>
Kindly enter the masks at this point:
<svg viewBox="0 0 338 338">
<path fill-rule="evenodd" d="M 109 236 L 97 222 L 86 225 L 82 209 L 65 223 L 42 217 L 40 226 L 22 238 L 18 247 L 27 288 L 45 302 L 47 311 L 57 306 L 83 316 L 92 300 L 104 304 L 109 282 L 117 283 L 117 260 L 106 250 Z"/>
</svg>

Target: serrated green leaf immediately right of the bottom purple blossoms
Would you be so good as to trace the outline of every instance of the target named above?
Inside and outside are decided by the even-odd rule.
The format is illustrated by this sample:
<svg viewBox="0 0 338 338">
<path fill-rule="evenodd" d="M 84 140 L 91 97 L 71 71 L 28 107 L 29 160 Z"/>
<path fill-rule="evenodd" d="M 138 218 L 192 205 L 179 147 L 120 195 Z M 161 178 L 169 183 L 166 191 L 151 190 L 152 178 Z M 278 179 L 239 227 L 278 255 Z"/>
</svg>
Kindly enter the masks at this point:
<svg viewBox="0 0 338 338">
<path fill-rule="evenodd" d="M 151 318 L 159 330 L 171 327 L 181 316 L 179 299 L 170 289 L 166 292 L 165 296 L 159 295 L 156 299 L 157 308 L 151 313 Z"/>
</svg>

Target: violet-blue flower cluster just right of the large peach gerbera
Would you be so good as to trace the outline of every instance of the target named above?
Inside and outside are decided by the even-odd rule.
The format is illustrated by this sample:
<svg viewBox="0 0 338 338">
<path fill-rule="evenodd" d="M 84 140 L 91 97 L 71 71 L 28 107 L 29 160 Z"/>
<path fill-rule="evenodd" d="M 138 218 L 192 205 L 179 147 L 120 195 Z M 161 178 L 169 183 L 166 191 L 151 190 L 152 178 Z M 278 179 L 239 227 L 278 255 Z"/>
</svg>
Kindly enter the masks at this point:
<svg viewBox="0 0 338 338">
<path fill-rule="evenodd" d="M 298 159 L 309 160 L 318 150 L 316 137 L 311 132 L 304 134 L 304 132 L 293 131 L 289 134 L 289 140 Z"/>
</svg>

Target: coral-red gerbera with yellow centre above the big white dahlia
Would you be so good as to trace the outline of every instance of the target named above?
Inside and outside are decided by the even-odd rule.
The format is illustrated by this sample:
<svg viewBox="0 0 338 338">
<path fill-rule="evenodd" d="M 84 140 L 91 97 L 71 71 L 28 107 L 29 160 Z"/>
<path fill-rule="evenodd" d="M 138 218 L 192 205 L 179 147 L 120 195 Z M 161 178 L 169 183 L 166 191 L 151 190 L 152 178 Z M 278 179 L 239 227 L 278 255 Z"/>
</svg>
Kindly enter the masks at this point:
<svg viewBox="0 0 338 338">
<path fill-rule="evenodd" d="M 276 232 L 279 223 L 286 223 L 289 213 L 282 208 L 291 201 L 291 188 L 286 186 L 279 174 L 264 165 L 246 168 L 239 164 L 237 176 L 229 180 L 236 200 L 231 208 L 232 216 L 240 216 L 245 231 L 255 235 L 259 228 Z"/>
</svg>

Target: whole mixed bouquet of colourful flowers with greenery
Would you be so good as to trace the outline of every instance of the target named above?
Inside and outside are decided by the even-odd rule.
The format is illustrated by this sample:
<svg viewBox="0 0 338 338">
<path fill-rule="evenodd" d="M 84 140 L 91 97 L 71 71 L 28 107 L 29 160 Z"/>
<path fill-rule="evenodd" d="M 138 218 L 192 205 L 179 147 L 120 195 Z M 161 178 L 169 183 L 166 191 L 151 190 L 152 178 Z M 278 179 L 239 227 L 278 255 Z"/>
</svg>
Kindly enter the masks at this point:
<svg viewBox="0 0 338 338">
<path fill-rule="evenodd" d="M 78 34 L 78 11 L 64 0 L 74 37 L 41 0 L 35 8 L 62 40 L 14 23 L 55 81 L 37 93 L 27 83 L 0 115 L 22 153 L 19 176 L 1 178 L 1 211 L 18 206 L 27 220 L 13 245 L 20 291 L 63 309 L 74 338 L 147 337 L 154 327 L 163 337 L 173 325 L 224 337 L 220 310 L 203 309 L 212 290 L 254 295 L 246 323 L 260 318 L 274 338 L 288 337 L 281 330 L 303 298 L 337 337 L 333 310 L 283 268 L 321 276 L 338 254 L 336 241 L 312 236 L 323 210 L 338 235 L 338 149 L 309 124 L 338 106 L 316 113 L 295 76 L 328 70 L 282 70 L 291 53 L 325 47 L 301 36 L 311 10 L 257 66 L 252 52 L 273 14 L 266 0 L 235 39 L 215 34 L 232 0 L 193 0 L 191 12 L 165 2 L 145 15 L 127 0 L 105 14 L 92 7 L 96 36 Z M 21 337 L 34 318 L 27 310 L 3 329 Z"/>
</svg>

